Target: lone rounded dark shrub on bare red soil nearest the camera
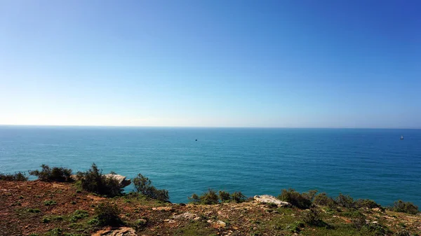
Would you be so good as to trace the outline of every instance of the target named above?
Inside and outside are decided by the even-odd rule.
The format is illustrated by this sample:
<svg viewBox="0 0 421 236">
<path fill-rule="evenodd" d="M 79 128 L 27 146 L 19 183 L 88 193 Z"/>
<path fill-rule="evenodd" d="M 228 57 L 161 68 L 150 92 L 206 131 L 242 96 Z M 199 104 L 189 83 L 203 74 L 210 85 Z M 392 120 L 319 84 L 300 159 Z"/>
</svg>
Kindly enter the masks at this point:
<svg viewBox="0 0 421 236">
<path fill-rule="evenodd" d="M 115 204 L 109 202 L 100 203 L 98 207 L 95 207 L 95 214 L 97 215 L 98 225 L 121 225 L 121 219 L 119 217 L 120 210 Z"/>
</svg>

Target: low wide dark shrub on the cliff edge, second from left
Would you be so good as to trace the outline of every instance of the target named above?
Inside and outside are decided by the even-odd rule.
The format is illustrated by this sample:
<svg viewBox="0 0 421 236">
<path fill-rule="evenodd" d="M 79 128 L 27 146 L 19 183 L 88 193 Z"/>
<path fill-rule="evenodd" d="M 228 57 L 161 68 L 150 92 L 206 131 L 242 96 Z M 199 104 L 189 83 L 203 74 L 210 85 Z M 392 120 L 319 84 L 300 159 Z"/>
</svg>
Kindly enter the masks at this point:
<svg viewBox="0 0 421 236">
<path fill-rule="evenodd" d="M 64 167 L 53 167 L 51 169 L 48 165 L 41 165 L 41 171 L 38 169 L 29 171 L 30 175 L 37 176 L 41 181 L 58 181 L 58 182 L 71 182 L 73 181 L 70 176 L 72 169 Z"/>
</svg>

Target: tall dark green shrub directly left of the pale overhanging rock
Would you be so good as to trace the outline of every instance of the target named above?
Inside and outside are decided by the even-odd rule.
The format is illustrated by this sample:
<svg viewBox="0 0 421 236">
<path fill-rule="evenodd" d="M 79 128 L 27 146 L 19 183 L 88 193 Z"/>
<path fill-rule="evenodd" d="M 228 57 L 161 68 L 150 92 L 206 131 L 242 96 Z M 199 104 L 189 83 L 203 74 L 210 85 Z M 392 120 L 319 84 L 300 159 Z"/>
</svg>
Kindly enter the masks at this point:
<svg viewBox="0 0 421 236">
<path fill-rule="evenodd" d="M 81 187 L 84 190 L 99 195 L 114 197 L 121 195 L 121 192 L 123 192 L 123 188 L 121 188 L 119 181 L 103 176 L 102 171 L 98 169 L 95 163 L 92 164 L 91 169 L 88 169 L 88 171 L 78 172 L 77 179 L 81 181 Z"/>
</svg>

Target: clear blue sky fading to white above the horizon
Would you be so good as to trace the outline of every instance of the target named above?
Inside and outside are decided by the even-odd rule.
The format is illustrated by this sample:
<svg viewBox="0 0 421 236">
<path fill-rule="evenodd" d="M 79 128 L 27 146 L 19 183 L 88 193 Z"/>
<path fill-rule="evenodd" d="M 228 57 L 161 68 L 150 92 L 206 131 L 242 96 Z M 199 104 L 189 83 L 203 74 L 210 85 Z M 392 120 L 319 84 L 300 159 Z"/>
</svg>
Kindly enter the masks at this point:
<svg viewBox="0 0 421 236">
<path fill-rule="evenodd" d="M 421 1 L 0 1 L 0 124 L 421 128 Z"/>
</svg>

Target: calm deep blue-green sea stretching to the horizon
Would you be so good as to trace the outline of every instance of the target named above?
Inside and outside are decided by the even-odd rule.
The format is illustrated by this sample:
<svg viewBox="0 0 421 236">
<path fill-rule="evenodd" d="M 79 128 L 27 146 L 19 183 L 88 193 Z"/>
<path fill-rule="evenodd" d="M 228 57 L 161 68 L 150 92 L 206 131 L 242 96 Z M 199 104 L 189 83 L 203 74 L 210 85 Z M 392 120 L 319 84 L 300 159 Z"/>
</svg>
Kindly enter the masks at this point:
<svg viewBox="0 0 421 236">
<path fill-rule="evenodd" d="M 421 130 L 0 126 L 0 172 L 93 162 L 142 173 L 173 202 L 208 188 L 295 188 L 421 206 Z"/>
</svg>

